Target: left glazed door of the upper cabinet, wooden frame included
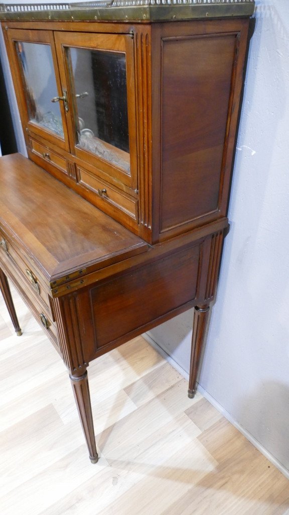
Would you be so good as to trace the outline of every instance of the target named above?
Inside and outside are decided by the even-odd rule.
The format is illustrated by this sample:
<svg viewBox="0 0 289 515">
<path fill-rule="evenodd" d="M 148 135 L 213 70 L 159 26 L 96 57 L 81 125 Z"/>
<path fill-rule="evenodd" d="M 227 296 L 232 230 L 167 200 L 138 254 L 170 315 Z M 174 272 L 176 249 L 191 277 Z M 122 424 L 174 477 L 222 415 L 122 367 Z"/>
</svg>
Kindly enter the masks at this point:
<svg viewBox="0 0 289 515">
<path fill-rule="evenodd" d="M 27 134 L 69 151 L 66 91 L 58 73 L 53 33 L 8 29 L 8 51 L 16 95 Z"/>
</svg>

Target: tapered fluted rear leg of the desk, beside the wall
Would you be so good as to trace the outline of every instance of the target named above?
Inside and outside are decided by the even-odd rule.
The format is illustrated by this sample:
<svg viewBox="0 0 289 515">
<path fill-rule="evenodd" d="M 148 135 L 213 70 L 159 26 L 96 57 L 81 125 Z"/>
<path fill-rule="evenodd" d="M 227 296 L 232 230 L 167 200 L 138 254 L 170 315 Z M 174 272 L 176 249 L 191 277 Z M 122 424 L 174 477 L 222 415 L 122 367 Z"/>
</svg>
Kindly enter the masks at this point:
<svg viewBox="0 0 289 515">
<path fill-rule="evenodd" d="M 210 306 L 196 306 L 194 308 L 191 365 L 188 396 L 193 399 L 196 393 L 196 377 L 198 366 L 200 364 L 201 350 L 204 343 L 206 325 L 208 321 Z"/>
</svg>

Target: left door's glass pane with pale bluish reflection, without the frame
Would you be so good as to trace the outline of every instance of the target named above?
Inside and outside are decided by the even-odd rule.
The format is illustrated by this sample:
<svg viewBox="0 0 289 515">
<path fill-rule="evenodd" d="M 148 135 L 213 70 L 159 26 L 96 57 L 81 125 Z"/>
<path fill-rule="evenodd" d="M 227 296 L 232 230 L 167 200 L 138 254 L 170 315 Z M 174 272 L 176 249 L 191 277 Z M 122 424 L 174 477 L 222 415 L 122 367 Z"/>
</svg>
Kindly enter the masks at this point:
<svg viewBox="0 0 289 515">
<path fill-rule="evenodd" d="M 17 41 L 16 50 L 22 64 L 29 120 L 63 138 L 60 107 L 51 102 L 58 92 L 50 46 Z"/>
</svg>

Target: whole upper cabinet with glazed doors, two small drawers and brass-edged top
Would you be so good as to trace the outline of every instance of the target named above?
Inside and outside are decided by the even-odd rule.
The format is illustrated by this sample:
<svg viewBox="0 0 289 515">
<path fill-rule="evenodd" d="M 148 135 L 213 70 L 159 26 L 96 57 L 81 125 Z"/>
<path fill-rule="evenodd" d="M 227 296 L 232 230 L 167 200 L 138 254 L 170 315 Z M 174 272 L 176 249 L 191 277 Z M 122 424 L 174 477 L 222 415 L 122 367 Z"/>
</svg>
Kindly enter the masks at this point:
<svg viewBox="0 0 289 515">
<path fill-rule="evenodd" d="M 254 2 L 207 4 L 2 22 L 29 158 L 149 243 L 227 213 Z"/>
</svg>

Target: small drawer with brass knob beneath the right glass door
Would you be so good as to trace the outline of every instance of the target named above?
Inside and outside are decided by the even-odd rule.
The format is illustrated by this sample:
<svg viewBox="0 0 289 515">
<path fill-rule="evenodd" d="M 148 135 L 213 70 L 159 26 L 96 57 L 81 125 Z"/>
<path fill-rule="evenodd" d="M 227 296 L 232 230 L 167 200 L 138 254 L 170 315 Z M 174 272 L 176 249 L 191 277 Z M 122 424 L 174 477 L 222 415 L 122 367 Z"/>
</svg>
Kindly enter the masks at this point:
<svg viewBox="0 0 289 515">
<path fill-rule="evenodd" d="M 120 190 L 113 188 L 106 182 L 103 182 L 94 174 L 83 168 L 77 169 L 78 182 L 83 184 L 86 188 L 96 193 L 99 197 L 98 206 L 101 209 L 101 202 L 111 204 L 112 206 L 120 209 L 122 212 L 130 215 L 134 220 L 138 219 L 138 201 L 137 199 L 130 197 L 122 193 Z"/>
</svg>

